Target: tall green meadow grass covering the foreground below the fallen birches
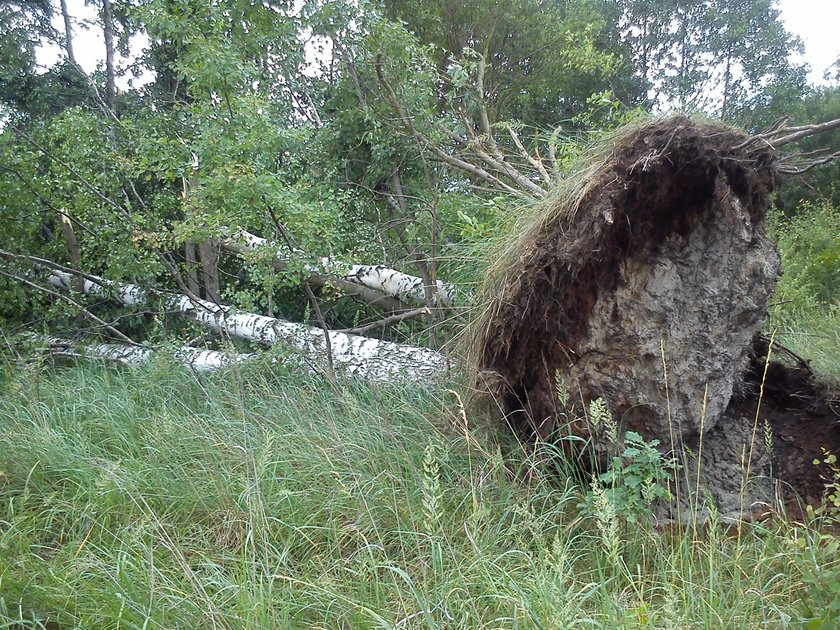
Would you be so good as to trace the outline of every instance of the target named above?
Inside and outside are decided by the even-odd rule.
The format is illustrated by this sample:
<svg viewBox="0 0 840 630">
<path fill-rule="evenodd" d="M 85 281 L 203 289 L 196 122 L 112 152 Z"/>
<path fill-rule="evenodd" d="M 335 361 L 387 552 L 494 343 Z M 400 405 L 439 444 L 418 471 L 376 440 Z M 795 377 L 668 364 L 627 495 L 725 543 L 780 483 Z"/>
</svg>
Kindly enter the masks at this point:
<svg viewBox="0 0 840 630">
<path fill-rule="evenodd" d="M 348 382 L 337 396 L 265 366 L 10 364 L 0 627 L 819 628 L 830 615 L 840 559 L 819 522 L 738 532 L 713 515 L 677 531 L 586 515 L 588 484 L 560 453 L 486 424 L 442 388 Z"/>
</svg>

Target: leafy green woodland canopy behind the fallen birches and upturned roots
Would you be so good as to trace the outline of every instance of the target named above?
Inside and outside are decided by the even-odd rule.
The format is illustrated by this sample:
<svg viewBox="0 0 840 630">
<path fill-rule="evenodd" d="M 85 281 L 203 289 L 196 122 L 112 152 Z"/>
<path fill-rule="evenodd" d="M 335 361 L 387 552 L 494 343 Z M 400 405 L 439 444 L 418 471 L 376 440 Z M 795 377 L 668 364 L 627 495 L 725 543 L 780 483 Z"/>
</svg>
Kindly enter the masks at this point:
<svg viewBox="0 0 840 630">
<path fill-rule="evenodd" d="M 439 344 L 458 315 L 437 283 L 468 293 L 507 208 L 548 194 L 594 135 L 675 108 L 753 130 L 837 115 L 837 85 L 806 85 L 771 0 L 89 4 L 106 41 L 91 74 L 66 3 L 0 2 L 0 314 L 15 326 L 76 314 L 21 283 L 44 272 L 31 257 L 331 327 L 381 318 L 370 295 L 324 284 L 328 259 L 422 279 L 422 322 L 382 334 Z M 152 80 L 118 88 L 141 33 L 131 71 Z M 64 51 L 52 68 L 42 42 Z M 789 209 L 834 194 L 813 181 Z M 282 264 L 225 253 L 243 230 Z"/>
</svg>

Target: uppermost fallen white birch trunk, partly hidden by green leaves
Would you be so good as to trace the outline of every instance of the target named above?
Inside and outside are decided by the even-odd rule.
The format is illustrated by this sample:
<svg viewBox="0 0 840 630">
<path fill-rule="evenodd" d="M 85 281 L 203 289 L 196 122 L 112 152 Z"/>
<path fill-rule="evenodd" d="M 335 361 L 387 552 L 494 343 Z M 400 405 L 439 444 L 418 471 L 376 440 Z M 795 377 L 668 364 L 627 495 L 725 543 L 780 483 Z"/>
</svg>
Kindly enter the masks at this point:
<svg viewBox="0 0 840 630">
<path fill-rule="evenodd" d="M 248 251 L 256 251 L 271 246 L 267 239 L 241 230 L 234 242 Z M 277 257 L 285 259 L 284 248 L 277 247 Z M 399 300 L 425 304 L 426 292 L 423 279 L 391 269 L 385 265 L 347 265 L 331 258 L 322 258 L 318 266 L 307 265 L 306 270 L 311 273 L 323 273 L 342 280 L 358 284 Z M 455 287 L 440 280 L 437 281 L 435 299 L 441 304 L 455 302 Z"/>
</svg>

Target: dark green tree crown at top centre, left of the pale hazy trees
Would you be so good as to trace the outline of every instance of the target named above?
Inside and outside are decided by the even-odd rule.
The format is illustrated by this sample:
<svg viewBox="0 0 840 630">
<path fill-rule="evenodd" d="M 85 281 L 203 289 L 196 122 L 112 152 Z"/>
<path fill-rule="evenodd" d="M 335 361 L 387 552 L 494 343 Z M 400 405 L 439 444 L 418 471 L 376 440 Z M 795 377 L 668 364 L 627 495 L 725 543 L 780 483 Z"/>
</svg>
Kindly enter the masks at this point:
<svg viewBox="0 0 840 630">
<path fill-rule="evenodd" d="M 430 0 L 416 6 L 385 0 L 385 15 L 403 21 L 431 45 L 440 98 L 458 85 L 457 66 L 475 51 L 488 62 L 485 95 L 491 121 L 517 120 L 553 127 L 586 108 L 586 99 L 608 90 L 617 57 L 598 45 L 606 27 L 595 2 L 498 3 Z M 484 96 L 484 95 L 483 95 Z"/>
</svg>

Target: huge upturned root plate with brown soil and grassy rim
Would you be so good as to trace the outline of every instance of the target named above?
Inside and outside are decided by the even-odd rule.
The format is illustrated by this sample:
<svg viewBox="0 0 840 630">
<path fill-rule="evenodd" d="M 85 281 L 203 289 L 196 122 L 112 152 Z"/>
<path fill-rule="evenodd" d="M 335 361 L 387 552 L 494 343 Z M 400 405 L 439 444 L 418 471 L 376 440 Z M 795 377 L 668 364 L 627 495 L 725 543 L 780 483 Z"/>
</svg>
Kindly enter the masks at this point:
<svg viewBox="0 0 840 630">
<path fill-rule="evenodd" d="M 522 437 L 597 445 L 585 410 L 601 398 L 621 433 L 674 452 L 705 441 L 709 490 L 736 510 L 720 479 L 754 441 L 754 340 L 780 272 L 764 227 L 775 154 L 747 139 L 682 115 L 625 127 L 523 219 L 488 271 L 470 335 L 479 391 Z M 774 401 L 796 395 L 778 383 Z M 771 424 L 784 424 L 786 405 Z M 840 446 L 823 433 L 823 446 Z M 737 502 L 743 511 L 743 492 Z"/>
</svg>

